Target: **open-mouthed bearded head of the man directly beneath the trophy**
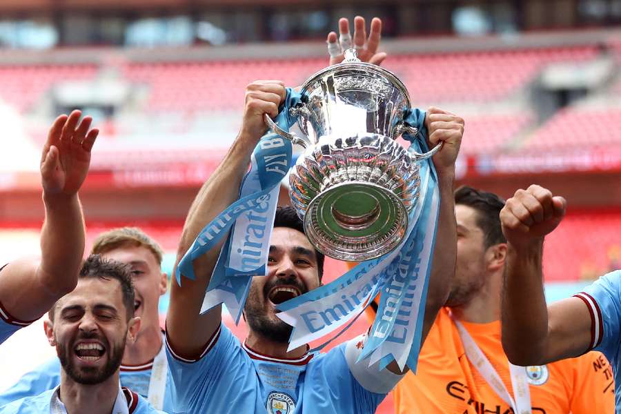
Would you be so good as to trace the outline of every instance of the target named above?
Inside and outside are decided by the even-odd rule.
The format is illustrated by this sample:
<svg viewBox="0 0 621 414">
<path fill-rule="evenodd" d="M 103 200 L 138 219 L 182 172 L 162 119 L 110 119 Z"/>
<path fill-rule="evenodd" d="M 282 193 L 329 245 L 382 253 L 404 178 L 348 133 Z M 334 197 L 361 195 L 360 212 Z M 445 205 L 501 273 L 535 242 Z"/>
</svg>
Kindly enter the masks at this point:
<svg viewBox="0 0 621 414">
<path fill-rule="evenodd" d="M 293 228 L 275 227 L 270 239 L 268 275 L 253 277 L 244 315 L 252 331 L 274 342 L 288 342 L 292 327 L 275 306 L 319 287 L 315 248 Z"/>
</svg>

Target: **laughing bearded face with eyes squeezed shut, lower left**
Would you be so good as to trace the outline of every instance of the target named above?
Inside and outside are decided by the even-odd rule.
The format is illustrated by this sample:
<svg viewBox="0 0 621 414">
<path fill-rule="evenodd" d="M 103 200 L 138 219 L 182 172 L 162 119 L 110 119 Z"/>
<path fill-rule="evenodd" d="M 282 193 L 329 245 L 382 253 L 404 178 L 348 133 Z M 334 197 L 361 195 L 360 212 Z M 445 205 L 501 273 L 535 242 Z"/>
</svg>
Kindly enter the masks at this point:
<svg viewBox="0 0 621 414">
<path fill-rule="evenodd" d="M 46 334 L 68 377 L 99 384 L 119 369 L 126 339 L 138 327 L 139 319 L 128 318 L 119 281 L 89 277 L 59 299 Z"/>
</svg>

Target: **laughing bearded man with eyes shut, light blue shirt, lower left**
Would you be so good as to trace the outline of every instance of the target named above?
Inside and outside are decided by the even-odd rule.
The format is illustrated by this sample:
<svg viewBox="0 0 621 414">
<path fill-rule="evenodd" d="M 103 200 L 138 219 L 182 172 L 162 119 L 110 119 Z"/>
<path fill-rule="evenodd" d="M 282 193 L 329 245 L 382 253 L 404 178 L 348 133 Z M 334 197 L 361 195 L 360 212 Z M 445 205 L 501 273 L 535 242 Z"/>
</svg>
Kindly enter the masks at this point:
<svg viewBox="0 0 621 414">
<path fill-rule="evenodd" d="M 0 406 L 0 413 L 160 413 L 119 384 L 126 342 L 135 340 L 140 326 L 134 301 L 128 266 L 88 257 L 77 286 L 52 306 L 45 324 L 48 342 L 61 361 L 59 386 Z"/>
</svg>

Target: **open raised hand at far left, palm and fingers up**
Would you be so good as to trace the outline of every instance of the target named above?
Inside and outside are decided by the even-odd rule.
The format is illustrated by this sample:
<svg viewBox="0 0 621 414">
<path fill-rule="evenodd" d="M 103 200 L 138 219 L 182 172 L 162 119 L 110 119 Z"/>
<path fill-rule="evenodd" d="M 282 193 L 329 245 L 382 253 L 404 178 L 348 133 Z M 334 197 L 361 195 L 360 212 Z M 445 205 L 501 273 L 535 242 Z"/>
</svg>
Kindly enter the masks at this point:
<svg viewBox="0 0 621 414">
<path fill-rule="evenodd" d="M 74 110 L 52 124 L 41 155 L 41 184 L 47 195 L 75 195 L 90 166 L 90 150 L 99 135 L 91 117 Z"/>
</svg>

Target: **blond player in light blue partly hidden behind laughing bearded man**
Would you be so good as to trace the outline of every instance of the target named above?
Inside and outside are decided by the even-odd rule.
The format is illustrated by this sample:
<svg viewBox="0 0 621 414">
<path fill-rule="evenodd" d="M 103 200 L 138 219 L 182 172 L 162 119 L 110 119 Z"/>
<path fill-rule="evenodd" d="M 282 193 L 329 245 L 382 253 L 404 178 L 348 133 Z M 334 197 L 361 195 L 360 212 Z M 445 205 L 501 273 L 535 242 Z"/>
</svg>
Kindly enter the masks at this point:
<svg viewBox="0 0 621 414">
<path fill-rule="evenodd" d="M 148 399 L 157 409 L 172 411 L 172 380 L 159 327 L 159 297 L 166 293 L 168 277 L 161 271 L 160 246 L 138 228 L 115 228 L 93 242 L 93 254 L 131 266 L 135 290 L 134 316 L 140 317 L 135 342 L 125 347 L 121 361 L 121 385 Z M 57 357 L 26 373 L 0 393 L 0 406 L 56 388 L 61 381 Z"/>
</svg>

